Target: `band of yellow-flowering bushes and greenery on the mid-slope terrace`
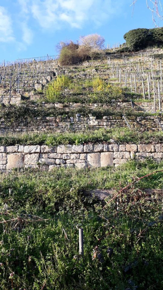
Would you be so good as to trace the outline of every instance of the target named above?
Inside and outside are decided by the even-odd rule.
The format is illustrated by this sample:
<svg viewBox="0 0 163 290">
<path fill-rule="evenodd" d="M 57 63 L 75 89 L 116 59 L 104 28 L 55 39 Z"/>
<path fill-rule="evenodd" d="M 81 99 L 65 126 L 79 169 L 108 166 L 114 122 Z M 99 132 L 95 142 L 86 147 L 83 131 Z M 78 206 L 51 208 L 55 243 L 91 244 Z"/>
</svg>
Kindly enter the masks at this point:
<svg viewBox="0 0 163 290">
<path fill-rule="evenodd" d="M 83 91 L 83 92 L 82 92 Z M 50 102 L 82 102 L 109 103 L 111 99 L 125 99 L 122 89 L 107 84 L 96 77 L 84 82 L 70 79 L 65 75 L 57 76 L 56 80 L 47 85 L 45 97 Z"/>
</svg>

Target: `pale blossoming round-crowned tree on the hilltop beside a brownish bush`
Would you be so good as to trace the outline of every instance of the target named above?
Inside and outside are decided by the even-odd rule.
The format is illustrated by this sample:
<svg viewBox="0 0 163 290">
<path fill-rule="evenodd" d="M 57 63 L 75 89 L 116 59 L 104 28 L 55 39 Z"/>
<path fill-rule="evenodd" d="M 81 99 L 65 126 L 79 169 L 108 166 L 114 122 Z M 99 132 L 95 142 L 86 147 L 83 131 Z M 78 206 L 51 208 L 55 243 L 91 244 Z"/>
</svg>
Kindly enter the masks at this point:
<svg viewBox="0 0 163 290">
<path fill-rule="evenodd" d="M 83 47 L 88 52 L 91 60 L 94 60 L 99 50 L 104 48 L 104 42 L 104 37 L 97 33 L 79 37 L 80 47 Z"/>
</svg>

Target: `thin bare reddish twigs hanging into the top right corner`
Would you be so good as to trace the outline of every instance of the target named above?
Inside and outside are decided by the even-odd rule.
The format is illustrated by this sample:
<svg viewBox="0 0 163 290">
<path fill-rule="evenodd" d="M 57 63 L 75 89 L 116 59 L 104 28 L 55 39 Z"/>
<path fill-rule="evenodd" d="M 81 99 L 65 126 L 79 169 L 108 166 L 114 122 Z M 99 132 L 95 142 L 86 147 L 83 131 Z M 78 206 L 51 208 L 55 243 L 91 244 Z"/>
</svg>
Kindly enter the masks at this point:
<svg viewBox="0 0 163 290">
<path fill-rule="evenodd" d="M 138 0 L 133 0 L 133 3 L 131 4 L 131 6 L 134 5 Z M 142 1 L 142 0 L 141 0 Z M 155 23 L 155 26 L 158 26 L 158 24 L 156 24 L 156 18 L 158 18 L 158 20 L 163 20 L 163 16 L 161 15 L 162 13 L 162 5 L 161 5 L 161 0 L 146 0 L 146 4 L 147 4 L 147 8 L 152 11 L 152 20 Z"/>
</svg>

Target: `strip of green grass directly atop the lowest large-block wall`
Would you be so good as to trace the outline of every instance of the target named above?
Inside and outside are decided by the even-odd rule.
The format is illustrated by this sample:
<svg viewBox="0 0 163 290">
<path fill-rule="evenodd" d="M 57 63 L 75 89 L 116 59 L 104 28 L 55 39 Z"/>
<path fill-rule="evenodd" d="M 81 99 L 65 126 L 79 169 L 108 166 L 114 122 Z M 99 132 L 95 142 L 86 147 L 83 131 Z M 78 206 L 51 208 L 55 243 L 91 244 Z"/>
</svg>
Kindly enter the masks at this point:
<svg viewBox="0 0 163 290">
<path fill-rule="evenodd" d="M 111 141 L 110 141 L 111 139 Z M 45 144 L 48 146 L 56 146 L 60 144 L 83 144 L 83 143 L 99 143 L 99 142 L 115 142 L 118 143 L 163 143 L 162 131 L 144 131 L 129 130 L 128 128 L 113 128 L 99 130 L 85 130 L 78 133 L 21 133 L 8 134 L 0 136 L 0 145 L 35 145 Z"/>
</svg>

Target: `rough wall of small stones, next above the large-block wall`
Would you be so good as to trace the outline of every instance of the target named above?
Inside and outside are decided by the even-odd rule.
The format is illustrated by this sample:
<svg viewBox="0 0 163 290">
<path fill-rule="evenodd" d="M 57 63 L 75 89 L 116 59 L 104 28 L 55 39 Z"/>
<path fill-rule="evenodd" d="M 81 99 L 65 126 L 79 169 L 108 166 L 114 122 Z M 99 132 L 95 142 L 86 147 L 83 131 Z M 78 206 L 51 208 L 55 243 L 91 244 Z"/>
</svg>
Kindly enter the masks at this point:
<svg viewBox="0 0 163 290">
<path fill-rule="evenodd" d="M 160 124 L 163 127 L 163 115 L 135 117 L 126 116 L 127 122 L 131 128 L 142 128 L 143 130 L 161 130 Z M 81 114 L 76 114 L 74 117 L 39 117 L 34 118 L 32 121 L 21 120 L 13 124 L 6 124 L 4 119 L 0 119 L 0 134 L 8 132 L 65 132 L 78 131 L 85 129 L 98 129 L 98 128 L 114 128 L 114 127 L 127 127 L 127 124 L 122 116 L 104 116 L 102 119 L 97 119 L 96 116 L 89 114 L 84 117 Z"/>
</svg>

